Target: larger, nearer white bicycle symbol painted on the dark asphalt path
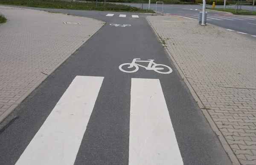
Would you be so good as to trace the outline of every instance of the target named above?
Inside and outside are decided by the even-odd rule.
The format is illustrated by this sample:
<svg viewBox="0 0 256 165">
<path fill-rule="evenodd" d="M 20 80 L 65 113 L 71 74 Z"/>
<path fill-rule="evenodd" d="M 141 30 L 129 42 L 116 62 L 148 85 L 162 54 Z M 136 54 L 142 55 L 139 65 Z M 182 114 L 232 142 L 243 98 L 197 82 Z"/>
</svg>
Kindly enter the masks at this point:
<svg viewBox="0 0 256 165">
<path fill-rule="evenodd" d="M 143 61 L 143 60 L 140 60 L 140 58 L 134 58 L 131 63 L 121 64 L 119 66 L 119 69 L 120 69 L 120 71 L 123 71 L 123 72 L 126 72 L 126 73 L 133 73 L 133 72 L 138 71 L 139 66 L 140 66 L 140 67 L 145 68 L 146 70 L 154 70 L 155 72 L 161 73 L 161 74 L 170 74 L 170 73 L 172 73 L 172 68 L 170 68 L 169 66 L 163 65 L 163 64 L 156 64 L 153 61 L 154 60 Z M 145 63 L 148 63 L 148 66 L 143 66 L 143 65 L 137 64 L 136 62 L 145 62 Z M 131 71 L 127 71 L 123 68 L 126 68 L 126 69 L 127 68 L 134 68 L 134 69 L 131 70 Z M 164 70 L 164 69 L 165 69 L 165 71 L 160 71 L 160 70 Z"/>
</svg>

